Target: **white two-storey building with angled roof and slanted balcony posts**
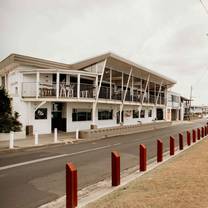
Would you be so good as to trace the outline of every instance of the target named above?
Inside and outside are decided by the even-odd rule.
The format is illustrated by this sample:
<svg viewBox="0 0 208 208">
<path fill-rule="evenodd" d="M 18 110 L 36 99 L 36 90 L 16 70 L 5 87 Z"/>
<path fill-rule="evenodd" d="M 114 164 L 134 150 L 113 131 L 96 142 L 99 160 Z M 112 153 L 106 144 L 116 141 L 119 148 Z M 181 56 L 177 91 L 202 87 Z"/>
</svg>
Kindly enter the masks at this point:
<svg viewBox="0 0 208 208">
<path fill-rule="evenodd" d="M 112 53 L 75 64 L 18 54 L 0 62 L 0 85 L 13 110 L 23 128 L 40 134 L 166 120 L 174 84 Z"/>
</svg>

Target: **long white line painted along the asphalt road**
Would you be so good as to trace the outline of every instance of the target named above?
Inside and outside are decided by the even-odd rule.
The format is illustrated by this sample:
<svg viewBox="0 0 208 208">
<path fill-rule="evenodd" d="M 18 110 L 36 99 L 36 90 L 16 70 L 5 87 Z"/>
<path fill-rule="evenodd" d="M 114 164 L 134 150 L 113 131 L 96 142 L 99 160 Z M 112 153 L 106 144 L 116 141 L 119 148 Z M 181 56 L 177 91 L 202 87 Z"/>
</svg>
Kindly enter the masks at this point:
<svg viewBox="0 0 208 208">
<path fill-rule="evenodd" d="M 118 145 L 120 145 L 120 143 L 116 143 L 116 144 L 112 144 L 112 145 L 106 145 L 106 146 L 102 146 L 102 147 L 96 147 L 96 148 L 87 149 L 87 150 L 82 150 L 82 151 L 79 151 L 79 152 L 73 152 L 73 153 L 69 153 L 69 154 L 56 155 L 56 156 L 51 156 L 51 157 L 44 157 L 44 158 L 39 158 L 39 159 L 36 159 L 36 160 L 30 160 L 30 161 L 26 161 L 26 162 L 16 163 L 16 164 L 0 167 L 0 171 L 10 169 L 10 168 L 20 167 L 20 166 L 24 166 L 24 165 L 39 163 L 39 162 L 43 162 L 43 161 L 47 161 L 47 160 L 53 160 L 53 159 L 57 159 L 57 158 L 68 157 L 68 156 L 78 155 L 78 154 L 87 153 L 87 152 L 93 152 L 93 151 L 97 151 L 97 150 L 101 150 L 101 149 L 107 149 L 109 147 L 118 146 Z"/>
</svg>

